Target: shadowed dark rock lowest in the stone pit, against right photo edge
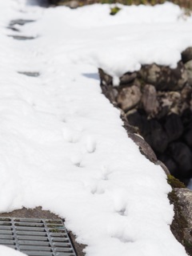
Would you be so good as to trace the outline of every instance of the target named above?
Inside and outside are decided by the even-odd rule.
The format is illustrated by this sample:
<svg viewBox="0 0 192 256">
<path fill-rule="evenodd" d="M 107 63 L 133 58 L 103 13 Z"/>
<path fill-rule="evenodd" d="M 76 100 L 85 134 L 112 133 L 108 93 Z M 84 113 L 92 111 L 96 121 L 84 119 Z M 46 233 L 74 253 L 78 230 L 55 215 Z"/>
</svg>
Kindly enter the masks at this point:
<svg viewBox="0 0 192 256">
<path fill-rule="evenodd" d="M 182 142 L 174 142 L 169 145 L 170 155 L 178 164 L 178 172 L 182 177 L 190 177 L 192 173 L 192 152 Z"/>
</svg>

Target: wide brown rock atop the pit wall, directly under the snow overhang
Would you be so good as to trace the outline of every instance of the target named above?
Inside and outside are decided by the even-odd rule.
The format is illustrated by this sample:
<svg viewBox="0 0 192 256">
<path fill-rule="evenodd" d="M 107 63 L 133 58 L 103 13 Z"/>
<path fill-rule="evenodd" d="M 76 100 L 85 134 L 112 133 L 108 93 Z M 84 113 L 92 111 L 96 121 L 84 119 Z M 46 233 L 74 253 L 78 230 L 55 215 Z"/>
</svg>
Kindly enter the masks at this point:
<svg viewBox="0 0 192 256">
<path fill-rule="evenodd" d="M 158 91 L 181 90 L 187 82 L 187 74 L 182 62 L 174 69 L 156 64 L 146 65 L 139 73 L 146 83 L 153 84 Z"/>
</svg>

